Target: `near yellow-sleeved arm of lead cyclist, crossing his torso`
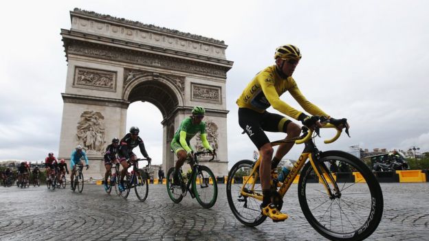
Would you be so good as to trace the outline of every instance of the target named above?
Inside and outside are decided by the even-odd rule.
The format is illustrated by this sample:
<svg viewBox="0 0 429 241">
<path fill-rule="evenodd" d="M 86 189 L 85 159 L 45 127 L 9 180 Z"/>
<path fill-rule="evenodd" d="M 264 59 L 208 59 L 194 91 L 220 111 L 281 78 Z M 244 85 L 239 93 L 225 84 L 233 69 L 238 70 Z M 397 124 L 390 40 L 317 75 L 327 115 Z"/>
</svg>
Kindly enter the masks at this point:
<svg viewBox="0 0 429 241">
<path fill-rule="evenodd" d="M 271 81 L 270 81 L 271 80 Z M 294 119 L 298 119 L 298 116 L 302 113 L 297 111 L 289 104 L 286 104 L 283 100 L 280 100 L 280 96 L 276 91 L 276 87 L 274 87 L 274 80 L 267 78 L 267 76 L 261 75 L 258 76 L 259 84 L 261 84 L 261 89 L 267 98 L 267 101 L 275 108 L 277 111 L 281 113 L 293 117 Z"/>
</svg>

